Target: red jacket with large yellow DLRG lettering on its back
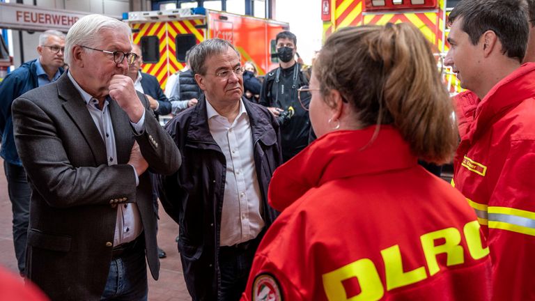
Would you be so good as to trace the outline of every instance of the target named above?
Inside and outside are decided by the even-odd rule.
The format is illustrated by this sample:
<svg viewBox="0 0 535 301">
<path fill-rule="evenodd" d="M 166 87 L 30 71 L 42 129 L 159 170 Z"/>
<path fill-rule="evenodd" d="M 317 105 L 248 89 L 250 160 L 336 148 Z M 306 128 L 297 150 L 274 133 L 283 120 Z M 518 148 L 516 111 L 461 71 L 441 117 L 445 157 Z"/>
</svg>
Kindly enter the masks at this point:
<svg viewBox="0 0 535 301">
<path fill-rule="evenodd" d="M 338 131 L 275 171 L 282 213 L 242 300 L 488 300 L 474 210 L 417 164 L 397 130 Z"/>
</svg>

